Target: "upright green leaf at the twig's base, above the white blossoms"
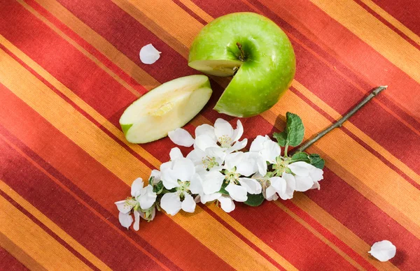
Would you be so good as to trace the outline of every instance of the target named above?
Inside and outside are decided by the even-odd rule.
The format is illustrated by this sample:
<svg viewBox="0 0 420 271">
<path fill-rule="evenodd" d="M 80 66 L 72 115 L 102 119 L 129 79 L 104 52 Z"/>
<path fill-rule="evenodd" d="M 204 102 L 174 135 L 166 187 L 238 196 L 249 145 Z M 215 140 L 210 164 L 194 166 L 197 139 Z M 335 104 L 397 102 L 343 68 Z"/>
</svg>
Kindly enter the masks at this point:
<svg viewBox="0 0 420 271">
<path fill-rule="evenodd" d="M 304 136 L 302 119 L 296 114 L 287 112 L 286 128 L 281 133 L 274 133 L 273 136 L 281 147 L 286 145 L 296 147 L 302 143 Z"/>
</svg>

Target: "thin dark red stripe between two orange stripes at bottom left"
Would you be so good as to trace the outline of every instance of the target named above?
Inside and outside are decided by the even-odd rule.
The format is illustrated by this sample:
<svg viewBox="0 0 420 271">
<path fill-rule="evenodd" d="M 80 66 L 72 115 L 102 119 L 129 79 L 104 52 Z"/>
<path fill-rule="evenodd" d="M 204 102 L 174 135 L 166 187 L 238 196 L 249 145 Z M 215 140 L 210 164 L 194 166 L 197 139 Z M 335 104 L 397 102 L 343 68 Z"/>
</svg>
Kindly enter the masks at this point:
<svg viewBox="0 0 420 271">
<path fill-rule="evenodd" d="M 7 149 L 6 146 L 2 147 L 1 145 L 6 145 L 6 142 L 1 140 L 1 138 L 0 138 L 0 147 L 3 149 L 3 151 L 5 151 L 5 150 L 10 151 L 10 149 Z M 25 210 L 24 207 L 20 206 L 19 203 L 17 203 L 15 200 L 13 200 L 13 198 L 10 198 L 10 196 L 8 196 L 6 193 L 4 193 L 1 190 L 0 190 L 0 196 L 5 198 L 9 203 L 11 203 L 14 207 L 16 207 L 16 209 L 20 210 L 20 212 L 25 214 L 25 216 L 27 216 L 29 219 L 31 219 L 31 221 L 33 221 L 36 225 L 38 225 L 40 228 L 42 228 L 45 231 L 45 233 L 48 233 L 48 235 L 50 235 L 57 242 L 62 244 L 63 247 L 68 249 L 71 252 L 71 254 L 76 256 L 80 261 L 83 261 L 83 263 L 85 263 L 87 266 L 89 266 L 93 270 L 99 270 L 96 266 L 94 266 L 92 263 L 90 263 L 90 261 L 88 261 L 85 257 L 83 257 L 82 254 L 78 253 L 78 251 L 73 249 L 73 247 L 70 247 L 69 244 L 67 244 L 64 240 L 62 240 L 62 238 L 60 238 L 58 235 L 56 235 L 54 232 L 52 232 L 52 230 L 50 230 L 50 228 L 48 228 L 41 221 L 36 219 L 36 217 L 34 217 L 31 213 L 29 213 L 27 210 Z"/>
</svg>

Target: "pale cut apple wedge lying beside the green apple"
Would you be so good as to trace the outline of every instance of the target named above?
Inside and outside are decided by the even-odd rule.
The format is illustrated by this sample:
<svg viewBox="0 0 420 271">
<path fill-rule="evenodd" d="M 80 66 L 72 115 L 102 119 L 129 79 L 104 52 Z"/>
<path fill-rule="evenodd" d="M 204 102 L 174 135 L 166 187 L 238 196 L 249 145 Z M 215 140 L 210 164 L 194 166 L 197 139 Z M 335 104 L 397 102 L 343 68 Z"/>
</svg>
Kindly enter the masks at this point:
<svg viewBox="0 0 420 271">
<path fill-rule="evenodd" d="M 128 142 L 146 143 L 168 135 L 197 115 L 211 96 L 206 75 L 166 82 L 134 101 L 120 118 Z"/>
</svg>

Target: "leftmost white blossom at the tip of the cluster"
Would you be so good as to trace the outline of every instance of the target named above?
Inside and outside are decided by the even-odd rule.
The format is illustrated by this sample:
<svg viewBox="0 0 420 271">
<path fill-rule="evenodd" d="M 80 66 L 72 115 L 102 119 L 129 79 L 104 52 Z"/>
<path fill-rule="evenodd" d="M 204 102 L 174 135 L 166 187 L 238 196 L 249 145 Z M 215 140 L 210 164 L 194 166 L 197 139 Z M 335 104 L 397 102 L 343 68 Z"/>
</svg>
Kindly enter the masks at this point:
<svg viewBox="0 0 420 271">
<path fill-rule="evenodd" d="M 151 186 L 151 184 L 144 187 L 144 183 L 141 178 L 137 178 L 132 183 L 131 194 L 131 198 L 129 197 L 126 200 L 120 200 L 115 203 L 120 211 L 120 214 L 118 214 L 118 220 L 123 227 L 128 229 L 133 223 L 133 219 L 130 214 L 132 212 L 134 214 L 133 228 L 134 230 L 139 230 L 140 217 L 144 217 L 144 219 L 147 220 L 153 219 L 150 219 L 146 213 L 150 212 L 151 208 L 155 204 L 157 195 L 153 192 L 153 186 Z"/>
</svg>

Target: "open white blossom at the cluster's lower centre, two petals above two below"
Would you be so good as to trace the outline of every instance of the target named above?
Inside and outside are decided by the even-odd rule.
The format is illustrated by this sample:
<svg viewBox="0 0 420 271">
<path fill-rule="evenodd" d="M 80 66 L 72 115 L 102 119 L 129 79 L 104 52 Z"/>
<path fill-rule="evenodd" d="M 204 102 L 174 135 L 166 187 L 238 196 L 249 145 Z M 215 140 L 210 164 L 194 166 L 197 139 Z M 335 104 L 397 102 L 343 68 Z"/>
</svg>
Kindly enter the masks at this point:
<svg viewBox="0 0 420 271">
<path fill-rule="evenodd" d="M 228 183 L 225 190 L 233 200 L 244 202 L 248 199 L 247 193 L 261 193 L 261 184 L 248 177 L 255 173 L 255 163 L 253 159 L 249 159 L 248 154 L 244 152 L 227 154 L 223 168 L 225 182 Z"/>
</svg>

